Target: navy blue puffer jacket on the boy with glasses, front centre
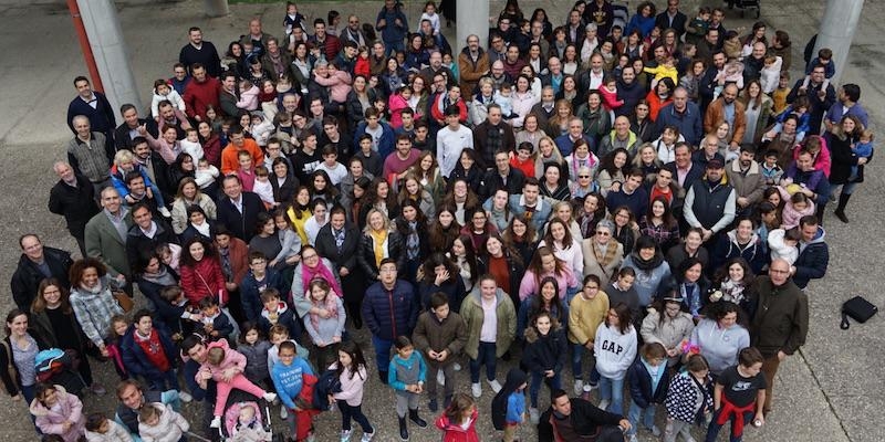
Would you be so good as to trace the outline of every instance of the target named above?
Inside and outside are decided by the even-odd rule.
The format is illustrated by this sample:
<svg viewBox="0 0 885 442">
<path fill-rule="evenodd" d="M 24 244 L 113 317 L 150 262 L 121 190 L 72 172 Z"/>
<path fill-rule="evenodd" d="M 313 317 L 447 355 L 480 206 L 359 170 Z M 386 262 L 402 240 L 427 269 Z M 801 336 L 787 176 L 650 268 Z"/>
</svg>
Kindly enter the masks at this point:
<svg viewBox="0 0 885 442">
<path fill-rule="evenodd" d="M 415 288 L 408 282 L 397 280 L 392 292 L 377 282 L 366 290 L 363 319 L 372 335 L 381 339 L 412 336 L 418 320 L 418 303 Z"/>
</svg>

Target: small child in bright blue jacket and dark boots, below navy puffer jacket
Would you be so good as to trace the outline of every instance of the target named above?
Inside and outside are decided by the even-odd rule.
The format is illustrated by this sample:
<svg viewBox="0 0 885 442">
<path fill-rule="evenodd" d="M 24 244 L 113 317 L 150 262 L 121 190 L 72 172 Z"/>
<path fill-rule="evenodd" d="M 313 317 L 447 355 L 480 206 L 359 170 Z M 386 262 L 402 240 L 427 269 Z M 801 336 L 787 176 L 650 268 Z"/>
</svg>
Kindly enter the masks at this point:
<svg viewBox="0 0 885 442">
<path fill-rule="evenodd" d="M 427 379 L 427 366 L 419 351 L 415 351 L 412 340 L 407 336 L 399 336 L 394 343 L 396 355 L 391 359 L 387 370 L 387 383 L 396 392 L 396 415 L 399 418 L 399 439 L 408 440 L 406 428 L 406 410 L 408 419 L 420 428 L 427 427 L 427 421 L 418 415 L 418 394 L 424 391 Z"/>
</svg>

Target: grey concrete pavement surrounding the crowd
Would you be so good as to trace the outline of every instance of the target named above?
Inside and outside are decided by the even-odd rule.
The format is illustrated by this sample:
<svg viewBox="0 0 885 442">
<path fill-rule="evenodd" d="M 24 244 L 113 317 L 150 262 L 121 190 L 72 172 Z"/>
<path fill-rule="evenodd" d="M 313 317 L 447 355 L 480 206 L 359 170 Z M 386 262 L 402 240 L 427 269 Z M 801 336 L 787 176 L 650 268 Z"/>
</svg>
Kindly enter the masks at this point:
<svg viewBox="0 0 885 442">
<path fill-rule="evenodd" d="M 0 77 L 4 80 L 0 151 L 6 154 L 0 156 L 0 188 L 4 189 L 0 198 L 3 220 L 0 223 L 0 281 L 9 281 L 14 270 L 19 255 L 17 240 L 22 233 L 37 232 L 46 244 L 76 250 L 61 218 L 48 213 L 45 201 L 49 188 L 55 181 L 51 172 L 52 161 L 64 158 L 63 146 L 71 136 L 63 122 L 67 103 L 74 96 L 71 81 L 85 72 L 71 19 L 63 6 L 33 6 L 25 4 L 29 3 L 25 1 L 9 3 L 0 2 L 0 22 L 4 24 L 0 28 L 0 38 L 6 43 L 3 63 L 0 63 Z M 683 3 L 683 10 L 690 15 L 699 2 Z M 762 3 L 762 20 L 769 24 L 769 35 L 774 29 L 787 30 L 793 41 L 793 64 L 801 65 L 802 49 L 815 32 L 825 2 L 787 0 Z M 502 4 L 502 1 L 493 1 L 491 11 L 499 11 Z M 525 13 L 540 4 L 538 1 L 521 2 Z M 559 22 L 571 4 L 568 0 L 555 0 L 543 2 L 543 8 L 554 22 Z M 407 2 L 410 21 L 419 15 L 421 6 L 423 1 Z M 223 51 L 229 41 L 244 32 L 248 19 L 253 15 L 264 18 L 268 32 L 280 34 L 283 8 L 281 3 L 232 6 L 229 17 L 206 19 L 202 2 L 197 0 L 122 6 L 119 18 L 143 101 L 149 103 L 149 90 L 155 78 L 169 76 L 190 25 L 201 27 L 205 38 Z M 378 8 L 379 2 L 300 4 L 301 11 L 311 19 L 325 17 L 329 9 L 337 9 L 345 15 L 357 13 L 364 22 L 374 20 Z M 727 17 L 729 28 L 738 23 L 751 24 L 749 20 L 739 20 L 736 13 Z M 870 110 L 874 129 L 883 127 L 885 122 L 879 106 L 885 103 L 885 90 L 881 85 L 881 73 L 885 72 L 883 23 L 885 4 L 867 1 L 842 76 L 845 83 L 861 85 L 862 103 Z M 446 32 L 455 45 L 451 41 L 454 29 Z M 794 71 L 794 77 L 796 75 L 799 71 Z M 814 282 L 809 290 L 812 322 L 808 344 L 781 366 L 775 379 L 774 412 L 764 428 L 748 431 L 748 441 L 865 442 L 885 439 L 879 430 L 885 424 L 885 399 L 879 393 L 881 379 L 885 378 L 881 356 L 885 336 L 883 317 L 878 315 L 864 325 L 854 324 L 847 332 L 839 329 L 839 307 L 848 297 L 863 294 L 874 304 L 885 305 L 881 282 L 883 271 L 879 270 L 882 260 L 875 241 L 885 230 L 882 221 L 885 208 L 877 198 L 885 183 L 879 161 L 873 161 L 867 171 L 866 182 L 850 206 L 852 223 L 842 224 L 831 213 L 825 218 L 831 263 L 826 277 Z M 6 312 L 11 305 L 10 299 L 0 299 L 0 312 Z M 364 348 L 369 348 L 369 345 Z M 98 379 L 113 390 L 113 370 L 105 365 L 98 371 Z M 381 431 L 376 440 L 392 441 L 396 434 L 393 393 L 377 382 L 374 368 L 371 371 L 372 383 L 367 388 L 364 409 Z M 499 368 L 501 376 L 504 371 L 504 368 Z M 469 381 L 466 373 L 459 376 L 459 389 L 466 391 Z M 480 434 L 482 440 L 493 440 L 487 419 L 491 394 L 488 388 L 486 390 L 480 401 L 480 411 L 485 413 L 481 414 Z M 542 404 L 546 397 L 542 392 Z M 110 411 L 113 407 L 108 398 L 87 397 L 85 402 L 91 411 Z M 10 423 L 0 430 L 0 440 L 34 440 L 24 406 L 9 399 L 0 399 L 0 403 L 3 404 L 0 421 Z M 424 403 L 421 409 L 425 409 Z M 194 417 L 192 407 L 188 414 Z M 337 412 L 324 413 L 317 422 L 319 440 L 333 440 L 339 428 Z M 433 429 L 417 431 L 413 425 L 412 430 L 413 440 L 429 441 L 439 436 Z M 534 438 L 528 428 L 522 429 L 521 435 L 524 440 Z M 646 432 L 641 432 L 639 436 L 641 440 L 652 440 Z"/>
</svg>

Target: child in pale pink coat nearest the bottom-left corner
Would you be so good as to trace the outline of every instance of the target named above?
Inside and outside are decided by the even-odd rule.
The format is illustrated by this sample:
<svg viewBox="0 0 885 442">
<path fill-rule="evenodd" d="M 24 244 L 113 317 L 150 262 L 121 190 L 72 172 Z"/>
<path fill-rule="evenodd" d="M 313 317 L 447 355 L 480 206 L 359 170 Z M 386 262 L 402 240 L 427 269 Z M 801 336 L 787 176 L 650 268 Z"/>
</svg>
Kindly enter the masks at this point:
<svg viewBox="0 0 885 442">
<path fill-rule="evenodd" d="M 44 434 L 58 434 L 65 442 L 76 442 L 84 434 L 83 402 L 62 386 L 38 385 L 30 411 Z"/>
</svg>

